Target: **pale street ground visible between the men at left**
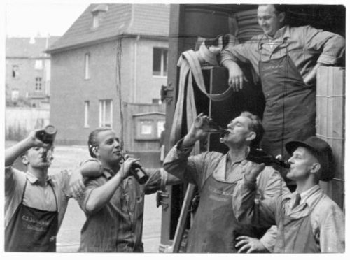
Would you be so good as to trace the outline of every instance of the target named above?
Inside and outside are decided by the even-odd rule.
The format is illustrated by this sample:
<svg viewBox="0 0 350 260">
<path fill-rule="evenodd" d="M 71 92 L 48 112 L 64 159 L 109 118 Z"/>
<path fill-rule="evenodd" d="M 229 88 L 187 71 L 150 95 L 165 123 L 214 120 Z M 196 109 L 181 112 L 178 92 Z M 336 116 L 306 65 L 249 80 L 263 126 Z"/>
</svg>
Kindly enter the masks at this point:
<svg viewBox="0 0 350 260">
<path fill-rule="evenodd" d="M 14 142 L 7 142 L 13 145 Z M 54 151 L 54 160 L 49 173 L 55 173 L 62 169 L 73 169 L 80 161 L 89 158 L 87 148 L 83 146 L 57 146 Z M 155 206 L 155 194 L 145 198 L 144 212 L 144 249 L 145 252 L 158 252 L 160 244 L 160 222 L 162 209 Z M 78 203 L 72 198 L 69 201 L 66 215 L 57 236 L 58 252 L 76 252 L 80 243 L 80 229 L 85 222 L 85 215 L 80 210 Z"/>
</svg>

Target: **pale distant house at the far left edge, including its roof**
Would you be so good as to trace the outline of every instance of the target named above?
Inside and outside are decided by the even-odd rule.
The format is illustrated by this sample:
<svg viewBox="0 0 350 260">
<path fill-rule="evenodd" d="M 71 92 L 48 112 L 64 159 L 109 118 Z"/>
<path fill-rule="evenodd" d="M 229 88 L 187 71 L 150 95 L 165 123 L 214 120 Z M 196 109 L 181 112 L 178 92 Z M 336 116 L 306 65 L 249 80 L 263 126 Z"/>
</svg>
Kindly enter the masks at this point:
<svg viewBox="0 0 350 260">
<path fill-rule="evenodd" d="M 49 106 L 50 55 L 44 51 L 59 37 L 6 37 L 6 105 Z"/>
</svg>

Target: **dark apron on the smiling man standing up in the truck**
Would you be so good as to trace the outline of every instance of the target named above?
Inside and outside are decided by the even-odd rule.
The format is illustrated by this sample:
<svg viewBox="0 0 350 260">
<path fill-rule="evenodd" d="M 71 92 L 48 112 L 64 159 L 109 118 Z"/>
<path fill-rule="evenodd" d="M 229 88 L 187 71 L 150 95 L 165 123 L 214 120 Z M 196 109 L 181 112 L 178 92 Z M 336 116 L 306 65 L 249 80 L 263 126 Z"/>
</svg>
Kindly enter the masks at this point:
<svg viewBox="0 0 350 260">
<path fill-rule="evenodd" d="M 282 43 L 284 44 L 284 43 Z M 286 55 L 262 62 L 259 71 L 265 111 L 262 150 L 288 157 L 284 145 L 316 134 L 316 87 L 307 87 L 292 59 Z"/>
</svg>

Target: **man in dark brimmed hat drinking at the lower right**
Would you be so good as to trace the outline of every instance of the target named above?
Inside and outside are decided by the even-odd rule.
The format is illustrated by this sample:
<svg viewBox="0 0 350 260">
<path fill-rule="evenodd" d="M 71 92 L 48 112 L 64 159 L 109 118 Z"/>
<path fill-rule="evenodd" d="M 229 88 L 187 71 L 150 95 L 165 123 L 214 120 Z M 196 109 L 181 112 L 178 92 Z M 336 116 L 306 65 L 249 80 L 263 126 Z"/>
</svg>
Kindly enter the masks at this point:
<svg viewBox="0 0 350 260">
<path fill-rule="evenodd" d="M 312 136 L 286 143 L 291 157 L 287 177 L 295 180 L 293 194 L 254 201 L 256 178 L 264 164 L 251 164 L 233 194 L 233 212 L 240 222 L 268 227 L 277 225 L 274 252 L 344 252 L 344 213 L 318 185 L 335 175 L 332 149 Z"/>
</svg>

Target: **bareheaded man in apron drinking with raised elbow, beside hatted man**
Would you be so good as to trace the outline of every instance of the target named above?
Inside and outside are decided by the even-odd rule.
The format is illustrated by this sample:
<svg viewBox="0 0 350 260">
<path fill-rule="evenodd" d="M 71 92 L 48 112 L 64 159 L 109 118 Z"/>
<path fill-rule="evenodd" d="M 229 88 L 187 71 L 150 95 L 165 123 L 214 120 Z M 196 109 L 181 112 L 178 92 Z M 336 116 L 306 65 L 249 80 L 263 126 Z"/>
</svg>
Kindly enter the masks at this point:
<svg viewBox="0 0 350 260">
<path fill-rule="evenodd" d="M 258 117 L 242 113 L 228 124 L 228 133 L 222 139 L 230 149 L 227 154 L 203 152 L 190 156 L 195 142 L 208 136 L 205 129 L 193 124 L 187 135 L 167 154 L 163 165 L 165 170 L 197 185 L 200 192 L 200 204 L 190 229 L 186 252 L 237 252 L 239 240 L 255 241 L 255 248 L 246 250 L 273 250 L 275 241 L 271 233 L 267 232 L 261 238 L 264 234 L 261 230 L 251 224 L 240 224 L 232 211 L 232 194 L 248 164 L 245 158 L 249 145 L 260 142 L 262 132 Z M 260 175 L 258 186 L 257 196 L 262 198 L 288 193 L 285 182 L 272 167 L 267 167 Z"/>
</svg>

